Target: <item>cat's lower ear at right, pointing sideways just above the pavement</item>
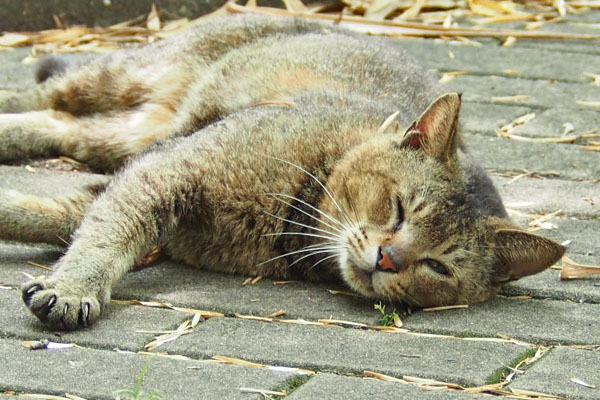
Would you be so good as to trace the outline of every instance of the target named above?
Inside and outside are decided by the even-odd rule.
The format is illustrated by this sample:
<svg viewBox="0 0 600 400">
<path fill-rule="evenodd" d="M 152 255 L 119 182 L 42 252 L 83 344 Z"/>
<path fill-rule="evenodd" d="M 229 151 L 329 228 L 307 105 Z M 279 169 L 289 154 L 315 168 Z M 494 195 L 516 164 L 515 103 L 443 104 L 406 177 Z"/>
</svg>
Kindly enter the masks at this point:
<svg viewBox="0 0 600 400">
<path fill-rule="evenodd" d="M 565 253 L 554 240 L 519 229 L 497 230 L 495 242 L 499 283 L 542 272 Z"/>
</svg>

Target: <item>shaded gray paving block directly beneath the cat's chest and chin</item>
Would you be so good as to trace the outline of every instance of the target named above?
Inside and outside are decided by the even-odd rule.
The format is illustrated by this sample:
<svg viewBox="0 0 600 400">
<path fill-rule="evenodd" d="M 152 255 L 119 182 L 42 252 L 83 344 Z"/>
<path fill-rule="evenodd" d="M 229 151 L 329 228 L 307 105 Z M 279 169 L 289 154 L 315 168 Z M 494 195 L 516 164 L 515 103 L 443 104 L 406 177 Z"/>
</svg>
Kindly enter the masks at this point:
<svg viewBox="0 0 600 400">
<path fill-rule="evenodd" d="M 286 318 L 333 317 L 366 324 L 376 324 L 381 315 L 373 308 L 373 300 L 328 291 L 348 291 L 339 284 L 293 282 L 276 286 L 265 278 L 255 285 L 242 286 L 245 279 L 162 262 L 127 274 L 115 286 L 113 298 L 166 301 L 230 315 L 267 315 L 285 310 Z"/>
</svg>

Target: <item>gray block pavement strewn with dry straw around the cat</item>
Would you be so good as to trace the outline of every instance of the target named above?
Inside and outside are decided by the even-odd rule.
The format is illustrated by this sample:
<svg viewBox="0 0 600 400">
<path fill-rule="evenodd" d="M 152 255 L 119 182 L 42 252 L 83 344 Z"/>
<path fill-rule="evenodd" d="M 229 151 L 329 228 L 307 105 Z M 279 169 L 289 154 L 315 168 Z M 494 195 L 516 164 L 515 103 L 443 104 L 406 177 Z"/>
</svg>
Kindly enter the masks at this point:
<svg viewBox="0 0 600 400">
<path fill-rule="evenodd" d="M 600 34 L 600 12 L 568 20 L 545 29 Z M 574 261 L 599 265 L 600 154 L 584 149 L 581 139 L 523 142 L 495 131 L 529 113 L 535 118 L 510 134 L 560 138 L 566 128 L 573 129 L 569 135 L 600 129 L 600 109 L 576 103 L 600 102 L 600 87 L 584 75 L 600 74 L 600 42 L 521 40 L 507 48 L 496 40 L 478 43 L 398 41 L 440 76 L 466 72 L 445 85 L 464 93 L 467 143 L 492 172 L 514 218 L 535 226 L 541 214 L 556 212 L 541 233 L 570 241 Z M 31 84 L 31 67 L 20 62 L 27 51 L 0 53 L 0 89 Z M 512 96 L 524 97 L 502 99 Z M 33 165 L 36 173 L 24 165 L 1 166 L 0 187 L 52 195 L 97 179 Z M 503 382 L 509 374 L 505 391 L 600 398 L 600 278 L 560 281 L 559 271 L 549 269 L 508 285 L 484 304 L 400 310 L 402 329 L 381 331 L 368 328 L 381 324 L 372 301 L 331 291 L 344 288 L 268 279 L 242 286 L 245 277 L 163 260 L 119 282 L 114 299 L 124 301 L 113 302 L 96 325 L 57 333 L 26 312 L 18 288 L 24 274 L 46 273 L 29 261 L 48 265 L 59 254 L 48 245 L 0 242 L 1 400 L 15 393 L 112 399 L 119 389 L 134 389 L 149 360 L 141 398 L 156 390 L 169 399 L 260 399 L 285 390 L 290 399 L 478 399 L 489 397 L 456 385 Z M 224 317 L 198 320 L 193 310 Z M 172 340 L 152 350 L 168 356 L 150 358 L 146 346 L 177 329 Z M 25 346 L 43 339 L 75 346 Z M 454 385 L 440 389 L 433 381 Z"/>
</svg>

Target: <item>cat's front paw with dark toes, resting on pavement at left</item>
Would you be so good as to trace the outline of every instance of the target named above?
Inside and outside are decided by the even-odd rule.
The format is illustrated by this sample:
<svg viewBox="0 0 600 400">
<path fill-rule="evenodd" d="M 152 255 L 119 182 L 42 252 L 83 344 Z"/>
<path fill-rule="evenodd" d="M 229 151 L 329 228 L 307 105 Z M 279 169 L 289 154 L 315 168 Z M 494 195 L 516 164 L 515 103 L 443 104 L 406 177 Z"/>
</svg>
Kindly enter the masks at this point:
<svg viewBox="0 0 600 400">
<path fill-rule="evenodd" d="M 100 316 L 101 304 L 96 297 L 61 289 L 45 278 L 25 283 L 21 291 L 29 311 L 52 329 L 84 328 Z"/>
</svg>

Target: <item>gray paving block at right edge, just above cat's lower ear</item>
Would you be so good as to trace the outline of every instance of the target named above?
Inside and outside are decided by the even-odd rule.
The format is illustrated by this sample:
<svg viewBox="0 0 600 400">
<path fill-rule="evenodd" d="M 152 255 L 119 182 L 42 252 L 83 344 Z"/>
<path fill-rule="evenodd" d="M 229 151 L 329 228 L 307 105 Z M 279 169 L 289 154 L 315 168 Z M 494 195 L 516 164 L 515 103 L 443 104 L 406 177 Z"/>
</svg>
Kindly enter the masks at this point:
<svg viewBox="0 0 600 400">
<path fill-rule="evenodd" d="M 493 152 L 491 152 L 493 153 Z M 492 176 L 507 208 L 520 212 L 562 210 L 570 217 L 597 219 L 600 215 L 600 185 L 559 179 L 511 179 Z"/>
</svg>

